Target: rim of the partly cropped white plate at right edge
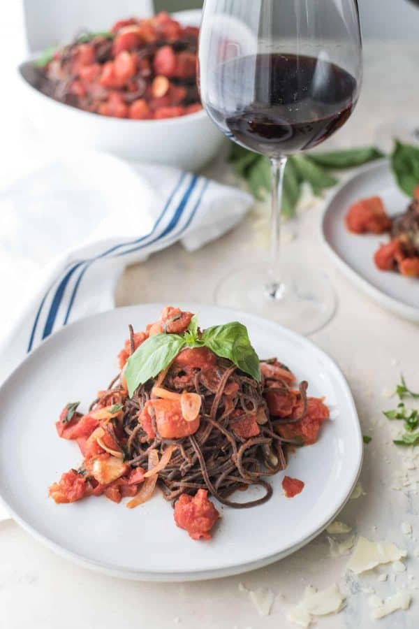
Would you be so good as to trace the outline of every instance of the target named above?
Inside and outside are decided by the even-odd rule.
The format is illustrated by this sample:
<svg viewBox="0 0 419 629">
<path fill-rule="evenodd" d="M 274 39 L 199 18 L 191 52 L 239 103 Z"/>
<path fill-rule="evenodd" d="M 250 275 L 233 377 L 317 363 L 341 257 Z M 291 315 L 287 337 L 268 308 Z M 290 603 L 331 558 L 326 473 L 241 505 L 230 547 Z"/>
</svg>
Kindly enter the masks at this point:
<svg viewBox="0 0 419 629">
<path fill-rule="evenodd" d="M 419 324 L 419 308 L 415 308 L 414 306 L 402 303 L 383 293 L 380 289 L 376 288 L 371 284 L 365 277 L 359 275 L 344 259 L 339 256 L 339 254 L 335 251 L 332 245 L 329 243 L 328 238 L 325 234 L 325 222 L 328 214 L 332 211 L 332 205 L 336 203 L 339 199 L 339 195 L 341 195 L 347 187 L 353 185 L 354 181 L 357 180 L 361 175 L 365 175 L 370 171 L 379 171 L 383 168 L 388 168 L 390 162 L 388 158 L 377 159 L 370 164 L 365 164 L 364 166 L 360 166 L 357 168 L 356 172 L 353 173 L 349 178 L 341 182 L 341 184 L 337 187 L 335 191 L 333 191 L 332 196 L 328 199 L 328 202 L 325 203 L 325 207 L 323 209 L 323 213 L 321 216 L 320 223 L 320 235 L 321 235 L 321 243 L 323 245 L 323 249 L 328 253 L 330 259 L 335 262 L 335 265 L 339 270 L 341 270 L 346 277 L 355 287 L 358 287 L 364 294 L 369 296 L 375 303 L 380 305 L 385 310 L 392 312 L 393 315 L 397 315 L 398 317 L 402 317 L 402 319 L 406 319 L 411 321 L 412 323 Z"/>
</svg>

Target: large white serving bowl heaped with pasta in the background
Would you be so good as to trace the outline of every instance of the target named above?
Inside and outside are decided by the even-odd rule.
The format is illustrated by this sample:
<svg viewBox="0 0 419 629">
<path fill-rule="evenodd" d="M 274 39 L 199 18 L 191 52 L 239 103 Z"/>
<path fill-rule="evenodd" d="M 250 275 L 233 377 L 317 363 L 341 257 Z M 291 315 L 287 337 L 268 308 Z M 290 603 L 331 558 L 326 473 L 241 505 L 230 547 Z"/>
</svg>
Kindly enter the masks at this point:
<svg viewBox="0 0 419 629">
<path fill-rule="evenodd" d="M 175 14 L 184 24 L 200 23 L 200 10 Z M 221 149 L 222 133 L 204 110 L 167 120 L 125 120 L 86 112 L 59 103 L 40 92 L 32 55 L 17 73 L 22 102 L 41 137 L 59 147 L 94 148 L 135 161 L 166 164 L 196 171 Z"/>
</svg>

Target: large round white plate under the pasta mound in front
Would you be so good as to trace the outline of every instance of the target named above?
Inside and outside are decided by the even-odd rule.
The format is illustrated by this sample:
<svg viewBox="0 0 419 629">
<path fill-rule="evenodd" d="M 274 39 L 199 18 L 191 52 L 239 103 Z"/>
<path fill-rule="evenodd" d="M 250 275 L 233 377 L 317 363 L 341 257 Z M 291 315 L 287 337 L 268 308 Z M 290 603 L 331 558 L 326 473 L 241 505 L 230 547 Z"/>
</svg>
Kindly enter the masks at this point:
<svg viewBox="0 0 419 629">
<path fill-rule="evenodd" d="M 334 421 L 317 444 L 292 455 L 287 474 L 304 491 L 286 500 L 283 473 L 274 496 L 253 509 L 221 508 L 211 542 L 193 542 L 175 526 L 160 492 L 131 511 L 106 498 L 55 505 L 47 487 L 80 463 L 78 447 L 54 427 L 63 405 L 82 409 L 117 371 L 127 326 L 157 319 L 162 305 L 147 304 L 95 315 L 64 328 L 38 347 L 0 389 L 0 495 L 13 517 L 60 554 L 101 572 L 129 579 L 209 579 L 261 567 L 290 554 L 321 532 L 351 495 L 362 463 L 362 436 L 346 381 L 328 356 L 306 338 L 277 324 L 232 310 L 181 304 L 207 327 L 238 319 L 260 356 L 277 355 L 309 394 L 326 396 Z M 257 489 L 248 496 L 256 496 Z M 217 505 L 219 507 L 219 505 Z"/>
</svg>

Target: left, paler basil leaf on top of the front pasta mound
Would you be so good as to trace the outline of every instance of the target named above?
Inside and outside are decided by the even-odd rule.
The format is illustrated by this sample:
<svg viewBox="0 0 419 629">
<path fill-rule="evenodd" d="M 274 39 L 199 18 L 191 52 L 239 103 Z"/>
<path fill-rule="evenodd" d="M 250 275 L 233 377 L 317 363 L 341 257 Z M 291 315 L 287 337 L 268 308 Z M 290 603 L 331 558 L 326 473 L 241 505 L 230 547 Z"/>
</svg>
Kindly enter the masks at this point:
<svg viewBox="0 0 419 629">
<path fill-rule="evenodd" d="M 129 396 L 133 396 L 140 384 L 166 369 L 185 345 L 186 341 L 178 334 L 161 333 L 147 338 L 126 363 L 124 376 Z"/>
</svg>

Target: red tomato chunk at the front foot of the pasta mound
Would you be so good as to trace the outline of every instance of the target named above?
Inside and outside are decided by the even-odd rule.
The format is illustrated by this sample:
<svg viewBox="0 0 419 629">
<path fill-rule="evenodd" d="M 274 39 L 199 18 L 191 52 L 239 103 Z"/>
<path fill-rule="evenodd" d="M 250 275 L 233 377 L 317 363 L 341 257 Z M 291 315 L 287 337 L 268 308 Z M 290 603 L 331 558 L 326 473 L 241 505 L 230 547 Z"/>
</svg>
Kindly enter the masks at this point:
<svg viewBox="0 0 419 629">
<path fill-rule="evenodd" d="M 205 489 L 198 489 L 193 497 L 182 493 L 175 504 L 175 522 L 193 540 L 210 540 L 210 531 L 219 519 L 219 512 L 207 496 Z"/>
</svg>

